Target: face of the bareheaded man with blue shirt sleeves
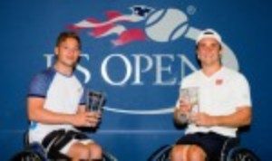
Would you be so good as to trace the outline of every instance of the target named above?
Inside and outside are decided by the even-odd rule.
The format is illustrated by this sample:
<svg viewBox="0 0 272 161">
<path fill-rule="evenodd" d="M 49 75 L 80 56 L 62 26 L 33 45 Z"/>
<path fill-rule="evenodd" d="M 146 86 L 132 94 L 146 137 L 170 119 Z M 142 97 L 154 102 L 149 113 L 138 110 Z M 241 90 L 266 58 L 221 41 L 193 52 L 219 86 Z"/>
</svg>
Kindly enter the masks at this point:
<svg viewBox="0 0 272 161">
<path fill-rule="evenodd" d="M 77 63 L 80 49 L 78 42 L 73 38 L 66 38 L 54 49 L 57 55 L 57 62 L 66 67 L 74 67 Z"/>
</svg>

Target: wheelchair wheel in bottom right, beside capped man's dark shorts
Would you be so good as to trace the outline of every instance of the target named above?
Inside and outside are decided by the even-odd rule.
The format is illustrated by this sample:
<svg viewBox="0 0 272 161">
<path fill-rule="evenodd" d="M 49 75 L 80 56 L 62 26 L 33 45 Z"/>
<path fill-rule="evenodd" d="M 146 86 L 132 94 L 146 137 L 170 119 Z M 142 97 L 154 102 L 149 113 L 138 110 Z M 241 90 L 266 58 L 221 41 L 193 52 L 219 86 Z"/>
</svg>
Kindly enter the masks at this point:
<svg viewBox="0 0 272 161">
<path fill-rule="evenodd" d="M 234 147 L 228 152 L 227 161 L 260 161 L 260 159 L 248 148 Z"/>
</svg>

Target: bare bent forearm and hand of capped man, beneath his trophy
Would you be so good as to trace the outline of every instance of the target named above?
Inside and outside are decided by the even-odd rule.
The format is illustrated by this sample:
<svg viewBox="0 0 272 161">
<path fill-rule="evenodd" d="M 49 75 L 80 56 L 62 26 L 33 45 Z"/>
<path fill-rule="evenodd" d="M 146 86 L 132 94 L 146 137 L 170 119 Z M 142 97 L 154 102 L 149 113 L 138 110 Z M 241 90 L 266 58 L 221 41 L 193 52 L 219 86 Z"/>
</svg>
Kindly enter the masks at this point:
<svg viewBox="0 0 272 161">
<path fill-rule="evenodd" d="M 198 113 L 190 119 L 199 126 L 220 126 L 238 128 L 248 126 L 251 122 L 252 111 L 250 107 L 237 108 L 236 112 L 226 116 L 210 116 L 206 113 Z"/>
</svg>

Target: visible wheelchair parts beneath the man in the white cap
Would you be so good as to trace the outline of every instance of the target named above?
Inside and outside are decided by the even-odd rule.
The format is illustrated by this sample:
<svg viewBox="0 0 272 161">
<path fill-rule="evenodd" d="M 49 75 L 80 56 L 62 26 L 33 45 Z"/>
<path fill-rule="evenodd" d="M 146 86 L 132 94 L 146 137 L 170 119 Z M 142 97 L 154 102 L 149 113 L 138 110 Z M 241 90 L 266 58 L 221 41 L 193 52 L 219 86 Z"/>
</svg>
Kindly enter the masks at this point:
<svg viewBox="0 0 272 161">
<path fill-rule="evenodd" d="M 154 151 L 148 161 L 170 161 L 170 151 L 173 145 L 164 145 Z M 240 147 L 238 140 L 229 138 L 221 150 L 219 161 L 260 161 L 253 151 Z"/>
</svg>

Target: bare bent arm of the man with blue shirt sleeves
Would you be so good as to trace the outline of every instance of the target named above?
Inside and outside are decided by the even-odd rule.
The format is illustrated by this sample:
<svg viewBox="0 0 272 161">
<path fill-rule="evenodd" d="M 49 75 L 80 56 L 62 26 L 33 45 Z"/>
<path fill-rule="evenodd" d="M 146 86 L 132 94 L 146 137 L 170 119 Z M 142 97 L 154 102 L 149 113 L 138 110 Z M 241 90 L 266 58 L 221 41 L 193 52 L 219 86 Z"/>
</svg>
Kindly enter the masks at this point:
<svg viewBox="0 0 272 161">
<path fill-rule="evenodd" d="M 27 99 L 28 118 L 44 124 L 71 124 L 75 127 L 95 127 L 100 116 L 83 110 L 83 107 L 80 106 L 75 114 L 56 113 L 44 109 L 43 98 L 30 97 Z"/>
</svg>

